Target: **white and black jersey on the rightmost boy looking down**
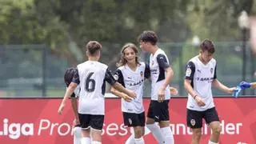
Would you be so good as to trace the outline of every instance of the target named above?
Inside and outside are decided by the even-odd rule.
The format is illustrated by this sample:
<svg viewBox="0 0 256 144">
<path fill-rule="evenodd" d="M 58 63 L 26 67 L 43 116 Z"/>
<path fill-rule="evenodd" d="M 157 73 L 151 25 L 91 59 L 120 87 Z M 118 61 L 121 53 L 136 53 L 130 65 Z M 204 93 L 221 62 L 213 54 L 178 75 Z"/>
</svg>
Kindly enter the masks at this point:
<svg viewBox="0 0 256 144">
<path fill-rule="evenodd" d="M 191 80 L 191 86 L 194 91 L 206 103 L 206 106 L 198 106 L 192 96 L 188 96 L 186 104 L 187 109 L 204 111 L 214 107 L 214 98 L 212 95 L 212 81 L 217 78 L 216 60 L 212 58 L 206 65 L 203 64 L 198 56 L 191 58 L 186 64 L 186 79 Z"/>
</svg>

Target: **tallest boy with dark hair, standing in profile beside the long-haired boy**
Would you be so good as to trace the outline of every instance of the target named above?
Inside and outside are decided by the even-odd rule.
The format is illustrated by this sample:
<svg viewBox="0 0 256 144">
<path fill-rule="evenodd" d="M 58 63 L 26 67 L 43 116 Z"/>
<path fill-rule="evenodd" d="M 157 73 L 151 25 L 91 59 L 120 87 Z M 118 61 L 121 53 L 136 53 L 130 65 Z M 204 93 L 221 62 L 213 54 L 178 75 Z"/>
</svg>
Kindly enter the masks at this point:
<svg viewBox="0 0 256 144">
<path fill-rule="evenodd" d="M 138 37 L 142 50 L 150 53 L 151 101 L 147 113 L 146 126 L 158 143 L 174 143 L 170 130 L 169 83 L 174 72 L 165 52 L 158 48 L 158 37 L 154 31 L 144 31 Z M 155 122 L 159 122 L 159 126 Z"/>
</svg>

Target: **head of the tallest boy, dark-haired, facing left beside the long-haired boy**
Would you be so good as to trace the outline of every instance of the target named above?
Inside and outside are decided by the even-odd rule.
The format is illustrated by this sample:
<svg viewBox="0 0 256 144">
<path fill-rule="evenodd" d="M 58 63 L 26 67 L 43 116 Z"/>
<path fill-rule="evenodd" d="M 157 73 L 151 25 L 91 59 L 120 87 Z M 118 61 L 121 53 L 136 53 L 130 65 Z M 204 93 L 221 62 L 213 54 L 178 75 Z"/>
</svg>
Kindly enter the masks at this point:
<svg viewBox="0 0 256 144">
<path fill-rule="evenodd" d="M 138 36 L 138 42 L 142 50 L 150 51 L 150 47 L 157 44 L 158 36 L 154 31 L 146 30 Z"/>
</svg>

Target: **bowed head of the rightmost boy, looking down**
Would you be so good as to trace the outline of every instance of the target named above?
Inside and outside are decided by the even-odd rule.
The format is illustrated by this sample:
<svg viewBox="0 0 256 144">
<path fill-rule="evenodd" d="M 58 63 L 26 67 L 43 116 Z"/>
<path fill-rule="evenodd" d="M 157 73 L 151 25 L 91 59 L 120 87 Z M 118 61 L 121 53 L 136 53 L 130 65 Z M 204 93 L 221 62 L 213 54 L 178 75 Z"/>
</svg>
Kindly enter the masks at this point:
<svg viewBox="0 0 256 144">
<path fill-rule="evenodd" d="M 200 55 L 203 61 L 209 62 L 215 52 L 214 42 L 205 39 L 200 44 Z"/>
</svg>

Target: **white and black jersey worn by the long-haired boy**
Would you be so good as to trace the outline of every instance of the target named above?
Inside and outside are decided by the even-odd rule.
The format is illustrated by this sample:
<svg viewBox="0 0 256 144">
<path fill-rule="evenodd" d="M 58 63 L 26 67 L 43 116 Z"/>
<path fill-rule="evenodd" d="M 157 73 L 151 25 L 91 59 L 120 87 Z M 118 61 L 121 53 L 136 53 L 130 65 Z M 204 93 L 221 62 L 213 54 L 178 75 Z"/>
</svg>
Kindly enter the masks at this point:
<svg viewBox="0 0 256 144">
<path fill-rule="evenodd" d="M 126 89 L 133 90 L 137 94 L 131 102 L 122 99 L 122 112 L 141 114 L 144 111 L 142 103 L 144 79 L 149 77 L 150 68 L 144 62 L 140 62 L 135 71 L 127 65 L 118 67 L 114 78 Z"/>
</svg>

